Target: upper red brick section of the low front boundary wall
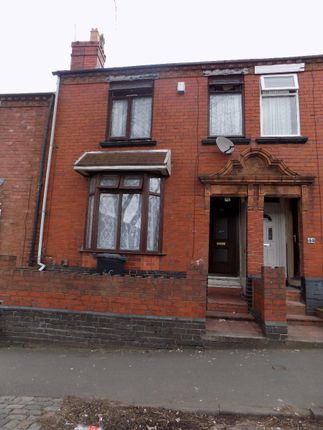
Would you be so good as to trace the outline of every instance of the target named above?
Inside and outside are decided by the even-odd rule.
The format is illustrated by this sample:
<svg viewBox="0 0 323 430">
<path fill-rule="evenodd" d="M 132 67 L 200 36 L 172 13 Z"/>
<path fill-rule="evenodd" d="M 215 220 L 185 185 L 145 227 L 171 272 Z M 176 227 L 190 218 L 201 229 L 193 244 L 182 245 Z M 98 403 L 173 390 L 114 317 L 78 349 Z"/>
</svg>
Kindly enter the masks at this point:
<svg viewBox="0 0 323 430">
<path fill-rule="evenodd" d="M 6 306 L 204 318 L 206 279 L 194 273 L 166 278 L 3 270 L 0 300 Z"/>
</svg>

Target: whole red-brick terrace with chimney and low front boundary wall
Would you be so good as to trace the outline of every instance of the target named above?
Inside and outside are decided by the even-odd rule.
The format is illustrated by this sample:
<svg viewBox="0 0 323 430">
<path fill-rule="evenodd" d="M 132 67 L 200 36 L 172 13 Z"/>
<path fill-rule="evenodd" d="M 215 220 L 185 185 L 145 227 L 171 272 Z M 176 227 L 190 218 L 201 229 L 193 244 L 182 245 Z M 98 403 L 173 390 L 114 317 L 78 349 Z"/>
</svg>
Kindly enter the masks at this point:
<svg viewBox="0 0 323 430">
<path fill-rule="evenodd" d="M 92 30 L 54 106 L 0 96 L 3 336 L 198 345 L 251 313 L 284 339 L 323 305 L 323 56 L 104 62 Z"/>
</svg>

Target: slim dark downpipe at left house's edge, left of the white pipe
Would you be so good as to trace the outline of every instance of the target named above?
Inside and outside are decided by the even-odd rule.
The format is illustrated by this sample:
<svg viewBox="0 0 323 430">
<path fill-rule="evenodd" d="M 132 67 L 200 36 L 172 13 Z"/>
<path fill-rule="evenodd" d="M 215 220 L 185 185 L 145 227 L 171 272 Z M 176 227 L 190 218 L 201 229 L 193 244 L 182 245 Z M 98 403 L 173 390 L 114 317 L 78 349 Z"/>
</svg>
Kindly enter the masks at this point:
<svg viewBox="0 0 323 430">
<path fill-rule="evenodd" d="M 42 194 L 42 189 L 44 184 L 44 164 L 46 161 L 45 159 L 46 159 L 46 153 L 47 153 L 47 145 L 49 141 L 48 139 L 49 127 L 50 127 L 50 123 L 53 115 L 54 102 L 55 102 L 55 94 L 51 96 L 45 129 L 44 129 L 44 138 L 43 138 L 42 152 L 41 152 L 40 164 L 39 164 L 39 177 L 38 177 L 38 183 L 37 183 L 37 195 L 36 195 L 36 206 L 35 206 L 35 212 L 34 212 L 33 232 L 31 237 L 31 245 L 30 245 L 29 258 L 28 258 L 29 266 L 33 266 L 33 264 L 35 263 L 35 244 L 36 244 L 37 230 L 38 230 L 39 208 L 40 208 L 41 194 Z"/>
</svg>

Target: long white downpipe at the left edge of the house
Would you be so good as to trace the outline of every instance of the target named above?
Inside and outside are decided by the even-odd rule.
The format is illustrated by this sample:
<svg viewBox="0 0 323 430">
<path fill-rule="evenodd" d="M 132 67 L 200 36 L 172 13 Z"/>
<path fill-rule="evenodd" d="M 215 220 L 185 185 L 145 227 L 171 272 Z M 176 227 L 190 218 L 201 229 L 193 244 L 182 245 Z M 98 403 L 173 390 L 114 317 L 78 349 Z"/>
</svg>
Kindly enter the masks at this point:
<svg viewBox="0 0 323 430">
<path fill-rule="evenodd" d="M 60 78 L 58 76 L 57 77 L 57 84 L 56 84 L 55 104 L 54 104 L 54 110 L 53 110 L 52 127 L 51 127 L 51 132 L 50 132 L 50 141 L 49 141 L 49 148 L 48 148 L 48 158 L 47 158 L 45 185 L 44 185 L 43 204 L 42 204 L 42 209 L 41 209 L 40 228 L 39 228 L 37 264 L 40 266 L 39 267 L 40 272 L 43 271 L 46 267 L 46 265 L 42 263 L 41 258 L 42 258 L 42 247 L 43 247 L 43 238 L 44 238 L 44 226 L 45 226 L 45 217 L 46 217 L 46 203 L 47 203 L 48 185 L 49 185 L 49 178 L 50 178 L 50 168 L 51 168 L 53 148 L 54 148 L 56 115 L 57 115 L 57 105 L 58 105 L 58 95 L 59 95 L 59 83 L 60 83 Z"/>
</svg>

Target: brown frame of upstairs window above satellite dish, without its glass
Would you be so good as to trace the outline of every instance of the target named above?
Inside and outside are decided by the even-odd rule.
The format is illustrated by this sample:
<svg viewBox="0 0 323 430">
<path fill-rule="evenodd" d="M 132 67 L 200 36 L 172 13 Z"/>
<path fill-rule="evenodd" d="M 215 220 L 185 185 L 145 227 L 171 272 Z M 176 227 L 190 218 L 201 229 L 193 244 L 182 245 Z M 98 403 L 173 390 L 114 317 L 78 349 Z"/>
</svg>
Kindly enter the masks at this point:
<svg viewBox="0 0 323 430">
<path fill-rule="evenodd" d="M 208 94 L 208 133 L 209 137 L 217 137 L 219 134 L 211 134 L 211 96 L 215 94 L 241 94 L 241 134 L 222 134 L 226 137 L 241 138 L 245 136 L 245 109 L 244 109 L 244 80 L 243 76 L 219 76 L 209 79 L 209 94 Z M 225 90 L 225 86 L 233 86 L 233 89 Z"/>
</svg>

